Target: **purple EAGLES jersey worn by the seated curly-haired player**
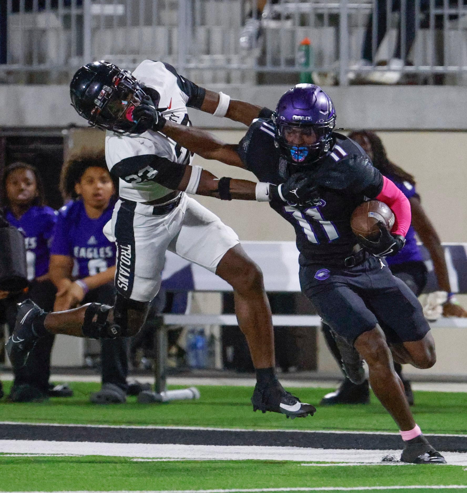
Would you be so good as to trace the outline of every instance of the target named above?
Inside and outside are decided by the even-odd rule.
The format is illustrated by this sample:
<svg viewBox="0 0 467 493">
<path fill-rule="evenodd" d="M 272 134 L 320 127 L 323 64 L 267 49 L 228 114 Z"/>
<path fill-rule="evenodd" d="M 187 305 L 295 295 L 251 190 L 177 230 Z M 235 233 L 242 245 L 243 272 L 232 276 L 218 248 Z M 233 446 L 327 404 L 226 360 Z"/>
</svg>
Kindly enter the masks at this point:
<svg viewBox="0 0 467 493">
<path fill-rule="evenodd" d="M 73 258 L 74 279 L 95 276 L 115 265 L 115 243 L 110 243 L 102 232 L 106 222 L 112 218 L 113 210 L 114 202 L 111 201 L 98 219 L 90 219 L 83 201 L 76 200 L 58 211 L 50 253 Z"/>
</svg>

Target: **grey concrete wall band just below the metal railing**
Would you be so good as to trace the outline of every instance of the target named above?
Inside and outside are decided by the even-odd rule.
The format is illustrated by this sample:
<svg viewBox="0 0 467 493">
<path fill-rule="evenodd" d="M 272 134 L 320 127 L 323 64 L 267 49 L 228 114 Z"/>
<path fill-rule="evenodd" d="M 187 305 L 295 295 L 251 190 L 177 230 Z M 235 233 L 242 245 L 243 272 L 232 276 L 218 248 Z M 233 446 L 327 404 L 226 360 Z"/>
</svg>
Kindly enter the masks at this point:
<svg viewBox="0 0 467 493">
<path fill-rule="evenodd" d="M 289 86 L 216 85 L 212 89 L 274 107 Z M 338 126 L 378 130 L 467 130 L 467 87 L 350 86 L 324 88 L 337 108 Z M 85 126 L 70 106 L 66 85 L 1 85 L 0 127 Z M 243 128 L 230 120 L 190 111 L 198 126 Z"/>
</svg>

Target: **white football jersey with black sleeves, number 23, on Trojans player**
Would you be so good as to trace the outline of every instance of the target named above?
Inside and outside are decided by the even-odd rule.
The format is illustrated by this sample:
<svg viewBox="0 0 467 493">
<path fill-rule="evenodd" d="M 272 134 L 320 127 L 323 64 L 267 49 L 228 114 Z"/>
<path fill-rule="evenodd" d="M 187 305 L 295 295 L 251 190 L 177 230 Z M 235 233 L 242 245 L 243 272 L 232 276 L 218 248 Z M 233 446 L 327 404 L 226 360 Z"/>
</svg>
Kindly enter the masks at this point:
<svg viewBox="0 0 467 493">
<path fill-rule="evenodd" d="M 204 100 L 204 89 L 181 77 L 176 70 L 163 62 L 145 60 L 133 71 L 142 87 L 156 90 L 160 95 L 159 111 L 167 119 L 181 125 L 189 125 L 187 106 L 199 108 Z M 193 156 L 172 139 L 160 132 L 122 135 L 106 132 L 105 153 L 109 171 L 121 160 L 155 154 L 180 164 L 191 164 Z M 167 195 L 172 190 L 155 181 L 131 175 L 127 180 L 119 178 L 119 196 L 133 202 L 150 202 Z"/>
</svg>

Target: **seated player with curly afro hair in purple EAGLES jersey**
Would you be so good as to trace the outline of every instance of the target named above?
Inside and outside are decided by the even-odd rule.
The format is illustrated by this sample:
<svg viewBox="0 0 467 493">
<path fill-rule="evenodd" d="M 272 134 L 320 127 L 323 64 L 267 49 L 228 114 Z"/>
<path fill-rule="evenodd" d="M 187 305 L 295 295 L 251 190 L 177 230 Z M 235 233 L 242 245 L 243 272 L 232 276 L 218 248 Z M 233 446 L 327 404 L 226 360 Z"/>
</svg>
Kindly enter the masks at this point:
<svg viewBox="0 0 467 493">
<path fill-rule="evenodd" d="M 72 200 L 59 211 L 50 247 L 50 279 L 57 287 L 54 311 L 97 302 L 112 305 L 116 246 L 102 228 L 112 217 L 116 184 L 104 154 L 83 154 L 65 163 L 61 190 Z M 127 339 L 101 341 L 102 388 L 96 403 L 125 402 Z"/>
</svg>

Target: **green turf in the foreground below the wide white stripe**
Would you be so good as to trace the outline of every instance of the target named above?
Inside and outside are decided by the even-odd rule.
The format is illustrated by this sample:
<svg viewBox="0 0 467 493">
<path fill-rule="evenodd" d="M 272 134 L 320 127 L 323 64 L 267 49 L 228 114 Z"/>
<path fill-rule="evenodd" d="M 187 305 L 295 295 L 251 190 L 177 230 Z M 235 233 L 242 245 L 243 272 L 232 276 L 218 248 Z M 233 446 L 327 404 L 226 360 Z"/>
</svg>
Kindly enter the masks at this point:
<svg viewBox="0 0 467 493">
<path fill-rule="evenodd" d="M 466 485 L 467 489 L 467 471 L 460 466 L 305 467 L 287 461 L 133 462 L 112 457 L 0 455 L 0 470 L 0 491 L 10 492 L 391 485 Z"/>
</svg>

